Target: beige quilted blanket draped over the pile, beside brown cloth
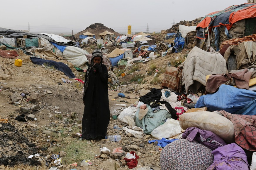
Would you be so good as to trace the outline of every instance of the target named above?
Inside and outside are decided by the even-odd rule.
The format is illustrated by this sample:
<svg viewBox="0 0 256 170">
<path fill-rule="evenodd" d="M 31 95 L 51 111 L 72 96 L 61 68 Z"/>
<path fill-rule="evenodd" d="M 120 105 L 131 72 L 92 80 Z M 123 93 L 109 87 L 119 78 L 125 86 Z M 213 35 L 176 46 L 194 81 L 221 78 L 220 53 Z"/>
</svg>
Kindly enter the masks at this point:
<svg viewBox="0 0 256 170">
<path fill-rule="evenodd" d="M 197 93 L 201 85 L 206 86 L 206 75 L 227 73 L 226 60 L 218 52 L 207 52 L 194 47 L 187 56 L 182 70 L 182 86 L 186 92 Z"/>
</svg>

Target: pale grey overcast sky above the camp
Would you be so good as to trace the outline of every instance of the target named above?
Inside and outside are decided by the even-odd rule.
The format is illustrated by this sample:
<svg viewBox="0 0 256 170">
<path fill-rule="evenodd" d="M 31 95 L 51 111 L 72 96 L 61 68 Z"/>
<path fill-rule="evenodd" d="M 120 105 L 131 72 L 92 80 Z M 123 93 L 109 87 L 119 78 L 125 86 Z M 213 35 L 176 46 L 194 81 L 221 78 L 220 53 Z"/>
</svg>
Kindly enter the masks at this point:
<svg viewBox="0 0 256 170">
<path fill-rule="evenodd" d="M 247 0 L 12 0 L 1 1 L 0 27 L 32 33 L 76 34 L 102 23 L 119 33 L 169 29 L 173 20 L 190 21 Z"/>
</svg>

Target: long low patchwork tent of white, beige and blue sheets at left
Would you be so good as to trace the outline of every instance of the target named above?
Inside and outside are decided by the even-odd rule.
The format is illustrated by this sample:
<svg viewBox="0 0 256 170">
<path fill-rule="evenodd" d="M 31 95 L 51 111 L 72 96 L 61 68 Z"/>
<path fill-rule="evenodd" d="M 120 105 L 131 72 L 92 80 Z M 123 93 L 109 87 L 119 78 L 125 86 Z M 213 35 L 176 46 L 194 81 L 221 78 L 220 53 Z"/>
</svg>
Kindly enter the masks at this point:
<svg viewBox="0 0 256 170">
<path fill-rule="evenodd" d="M 8 29 L 6 30 L 8 32 Z M 4 32 L 4 29 L 1 31 Z M 7 40 L 6 38 L 10 40 Z M 21 42 L 21 44 L 18 45 L 16 43 L 13 45 L 13 38 L 17 39 L 17 41 Z M 55 34 L 28 34 L 14 32 L 7 34 L 3 40 L 0 40 L 0 42 L 4 42 L 3 45 L 6 46 L 16 46 L 17 48 L 22 48 L 27 53 L 39 55 L 43 58 L 65 58 L 65 60 L 72 63 L 75 67 L 83 70 L 87 69 L 89 66 L 89 61 L 86 57 L 86 54 L 89 54 L 87 51 L 74 46 L 72 41 Z"/>
</svg>

